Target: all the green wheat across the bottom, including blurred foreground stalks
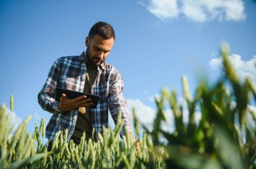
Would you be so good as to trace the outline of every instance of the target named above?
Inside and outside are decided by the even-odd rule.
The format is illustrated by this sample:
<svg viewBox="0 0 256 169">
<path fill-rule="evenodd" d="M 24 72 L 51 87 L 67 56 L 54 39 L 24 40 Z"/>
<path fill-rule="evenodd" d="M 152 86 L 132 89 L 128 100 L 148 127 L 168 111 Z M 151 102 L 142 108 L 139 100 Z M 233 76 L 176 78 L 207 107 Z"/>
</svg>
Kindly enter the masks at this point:
<svg viewBox="0 0 256 169">
<path fill-rule="evenodd" d="M 141 146 L 136 150 L 129 135 L 119 138 L 123 126 L 121 115 L 115 129 L 97 133 L 98 142 L 85 135 L 79 145 L 67 143 L 67 131 L 59 132 L 53 150 L 42 145 L 44 119 L 34 133 L 26 132 L 31 117 L 11 134 L 11 115 L 5 105 L 0 109 L 0 168 L 256 168 L 256 114 L 249 103 L 256 101 L 256 88 L 246 78 L 241 81 L 228 61 L 228 48 L 222 47 L 226 74 L 212 87 L 201 81 L 194 95 L 189 93 L 187 78 L 183 76 L 183 97 L 187 103 L 189 121 L 183 121 L 184 109 L 178 103 L 176 91 L 163 89 L 156 98 L 158 107 L 153 129 L 138 123 L 135 110 L 135 137 Z M 167 103 L 167 105 L 166 105 Z M 13 111 L 13 97 L 11 99 Z M 162 128 L 166 108 L 174 115 L 174 132 Z M 201 119 L 195 120 L 200 111 Z M 253 125 L 250 125 L 251 116 Z M 139 126 L 144 132 L 138 138 Z M 166 142 L 162 142 L 162 138 Z"/>
</svg>

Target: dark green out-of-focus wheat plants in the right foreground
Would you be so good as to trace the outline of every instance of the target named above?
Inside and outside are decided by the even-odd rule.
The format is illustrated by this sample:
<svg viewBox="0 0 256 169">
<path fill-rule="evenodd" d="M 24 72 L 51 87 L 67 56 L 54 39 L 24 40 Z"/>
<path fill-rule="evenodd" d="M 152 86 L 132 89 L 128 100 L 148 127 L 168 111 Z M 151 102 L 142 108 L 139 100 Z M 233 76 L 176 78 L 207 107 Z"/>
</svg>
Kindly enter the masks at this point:
<svg viewBox="0 0 256 169">
<path fill-rule="evenodd" d="M 179 105 L 176 91 L 163 89 L 162 97 L 156 99 L 158 113 L 152 137 L 154 146 L 161 144 L 161 134 L 168 141 L 169 158 L 165 160 L 168 168 L 256 167 L 256 114 L 249 107 L 252 96 L 256 101 L 255 86 L 249 78 L 242 82 L 236 75 L 228 60 L 228 46 L 222 45 L 221 51 L 226 74 L 214 87 L 202 81 L 191 97 L 187 78 L 183 76 L 188 123 L 183 121 L 184 107 Z M 166 120 L 163 108 L 166 101 L 174 115 L 173 133 L 161 128 L 161 121 Z M 201 115 L 199 121 L 195 121 L 196 113 Z"/>
</svg>

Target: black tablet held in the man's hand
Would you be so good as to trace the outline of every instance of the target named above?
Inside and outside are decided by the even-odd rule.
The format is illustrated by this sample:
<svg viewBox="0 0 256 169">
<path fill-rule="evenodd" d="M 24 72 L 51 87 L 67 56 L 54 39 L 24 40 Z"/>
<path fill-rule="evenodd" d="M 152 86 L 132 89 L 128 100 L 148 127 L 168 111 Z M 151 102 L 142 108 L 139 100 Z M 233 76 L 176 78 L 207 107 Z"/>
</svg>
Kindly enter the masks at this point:
<svg viewBox="0 0 256 169">
<path fill-rule="evenodd" d="M 92 99 L 93 105 L 91 106 L 92 109 L 95 109 L 98 105 L 98 101 L 100 100 L 100 97 L 97 95 L 90 95 L 88 93 L 82 93 L 77 91 L 71 91 L 67 89 L 61 89 L 59 87 L 56 87 L 55 89 L 55 101 L 60 101 L 62 94 L 65 93 L 67 95 L 67 98 L 74 99 L 76 97 L 80 97 L 83 95 L 86 95 L 86 98 Z"/>
</svg>

